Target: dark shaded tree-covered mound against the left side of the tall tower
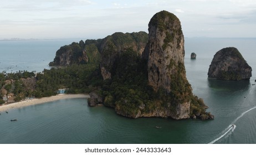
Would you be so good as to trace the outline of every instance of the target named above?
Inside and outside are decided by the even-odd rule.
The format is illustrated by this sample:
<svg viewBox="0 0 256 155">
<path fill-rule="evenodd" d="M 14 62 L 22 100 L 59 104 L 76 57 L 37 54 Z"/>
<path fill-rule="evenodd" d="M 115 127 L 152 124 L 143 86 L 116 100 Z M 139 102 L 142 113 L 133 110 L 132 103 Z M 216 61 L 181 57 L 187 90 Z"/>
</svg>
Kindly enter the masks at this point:
<svg viewBox="0 0 256 155">
<path fill-rule="evenodd" d="M 115 107 L 117 113 L 136 118 L 140 107 L 153 104 L 150 99 L 156 96 L 147 85 L 146 62 L 133 50 L 121 53 L 114 64 L 112 78 L 104 81 L 104 105 Z"/>
</svg>

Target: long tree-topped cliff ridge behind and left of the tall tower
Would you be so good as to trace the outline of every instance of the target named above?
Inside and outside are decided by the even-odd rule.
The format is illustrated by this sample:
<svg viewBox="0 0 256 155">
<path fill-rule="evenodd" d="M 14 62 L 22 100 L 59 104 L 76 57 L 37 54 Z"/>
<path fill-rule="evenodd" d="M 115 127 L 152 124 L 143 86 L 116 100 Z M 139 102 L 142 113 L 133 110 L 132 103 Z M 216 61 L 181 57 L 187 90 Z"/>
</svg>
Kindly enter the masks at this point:
<svg viewBox="0 0 256 155">
<path fill-rule="evenodd" d="M 139 55 L 144 51 L 149 36 L 146 32 L 116 32 L 104 39 L 81 40 L 79 43 L 62 46 L 49 65 L 99 63 L 103 79 L 111 79 L 112 68 L 120 53 L 134 50 Z"/>
</svg>

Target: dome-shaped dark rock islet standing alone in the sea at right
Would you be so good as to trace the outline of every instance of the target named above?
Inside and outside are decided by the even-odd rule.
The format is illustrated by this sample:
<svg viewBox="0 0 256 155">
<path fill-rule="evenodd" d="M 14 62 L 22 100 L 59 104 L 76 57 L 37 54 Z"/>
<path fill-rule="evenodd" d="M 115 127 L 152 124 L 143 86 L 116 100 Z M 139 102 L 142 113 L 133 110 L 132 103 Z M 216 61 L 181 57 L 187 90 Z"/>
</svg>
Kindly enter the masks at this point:
<svg viewBox="0 0 256 155">
<path fill-rule="evenodd" d="M 230 47 L 219 50 L 209 66 L 208 77 L 218 80 L 249 80 L 252 68 L 244 60 L 238 49 Z"/>
</svg>

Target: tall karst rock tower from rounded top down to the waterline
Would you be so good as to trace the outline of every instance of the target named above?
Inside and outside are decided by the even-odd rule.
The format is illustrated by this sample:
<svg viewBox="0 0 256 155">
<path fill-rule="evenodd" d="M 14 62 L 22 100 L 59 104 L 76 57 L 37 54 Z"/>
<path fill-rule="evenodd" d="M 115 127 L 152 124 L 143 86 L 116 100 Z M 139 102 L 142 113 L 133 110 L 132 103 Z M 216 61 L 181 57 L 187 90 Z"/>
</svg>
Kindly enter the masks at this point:
<svg viewBox="0 0 256 155">
<path fill-rule="evenodd" d="M 171 117 L 190 117 L 193 94 L 186 79 L 181 22 L 174 14 L 161 11 L 151 18 L 149 42 L 142 56 L 148 61 L 149 85 L 167 96 Z"/>
</svg>

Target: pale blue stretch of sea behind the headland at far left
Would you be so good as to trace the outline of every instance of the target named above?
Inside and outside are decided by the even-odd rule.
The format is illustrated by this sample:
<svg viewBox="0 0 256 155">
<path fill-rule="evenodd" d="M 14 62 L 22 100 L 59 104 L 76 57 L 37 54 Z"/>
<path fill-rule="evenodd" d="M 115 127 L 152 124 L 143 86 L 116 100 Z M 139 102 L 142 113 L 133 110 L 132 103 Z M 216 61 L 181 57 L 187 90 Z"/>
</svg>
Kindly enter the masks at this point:
<svg viewBox="0 0 256 155">
<path fill-rule="evenodd" d="M 63 40 L 13 40 L 0 41 L 0 73 L 16 73 L 27 70 L 42 72 L 50 69 L 56 51 L 63 45 L 79 42 L 79 39 Z"/>
</svg>

